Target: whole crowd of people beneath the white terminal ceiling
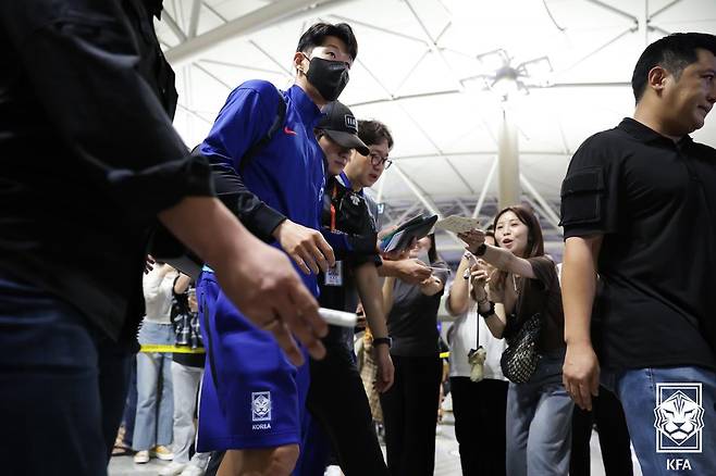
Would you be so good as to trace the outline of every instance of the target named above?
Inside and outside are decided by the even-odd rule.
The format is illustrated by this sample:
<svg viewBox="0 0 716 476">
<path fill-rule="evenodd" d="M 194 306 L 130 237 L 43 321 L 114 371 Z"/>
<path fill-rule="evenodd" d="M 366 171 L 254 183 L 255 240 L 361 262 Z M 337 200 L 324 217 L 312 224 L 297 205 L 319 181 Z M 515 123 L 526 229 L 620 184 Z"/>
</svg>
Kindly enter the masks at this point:
<svg viewBox="0 0 716 476">
<path fill-rule="evenodd" d="M 641 54 L 633 118 L 564 179 L 560 266 L 513 204 L 458 235 L 453 272 L 434 235 L 379 247 L 394 228 L 365 189 L 394 138 L 338 101 L 349 25 L 310 26 L 293 86 L 238 85 L 189 152 L 161 11 L 0 5 L 8 474 L 97 476 L 128 452 L 164 476 L 432 475 L 441 309 L 465 475 L 589 474 L 594 424 L 609 475 L 630 444 L 644 475 L 716 474 L 716 151 L 689 137 L 716 102 L 715 36 Z M 361 359 L 319 306 L 361 310 Z"/>
</svg>

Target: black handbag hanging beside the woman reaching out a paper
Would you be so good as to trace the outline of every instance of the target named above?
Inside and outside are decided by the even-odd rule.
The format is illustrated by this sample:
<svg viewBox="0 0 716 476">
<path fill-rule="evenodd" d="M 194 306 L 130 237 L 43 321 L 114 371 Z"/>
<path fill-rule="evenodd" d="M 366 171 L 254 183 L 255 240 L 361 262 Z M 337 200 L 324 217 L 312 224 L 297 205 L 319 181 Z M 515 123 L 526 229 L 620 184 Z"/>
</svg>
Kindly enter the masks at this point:
<svg viewBox="0 0 716 476">
<path fill-rule="evenodd" d="M 538 341 L 542 330 L 542 314 L 527 320 L 515 337 L 507 339 L 507 349 L 499 359 L 503 375 L 514 384 L 528 381 L 540 362 Z"/>
</svg>

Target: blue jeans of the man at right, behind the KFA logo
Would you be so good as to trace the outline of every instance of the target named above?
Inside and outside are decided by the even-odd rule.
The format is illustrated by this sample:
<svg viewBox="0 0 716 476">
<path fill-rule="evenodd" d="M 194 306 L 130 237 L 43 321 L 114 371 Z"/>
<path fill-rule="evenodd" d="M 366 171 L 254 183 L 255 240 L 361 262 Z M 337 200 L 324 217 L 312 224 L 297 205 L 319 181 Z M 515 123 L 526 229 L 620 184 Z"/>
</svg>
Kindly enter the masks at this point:
<svg viewBox="0 0 716 476">
<path fill-rule="evenodd" d="M 602 384 L 621 401 L 631 442 L 644 475 L 716 475 L 716 373 L 693 366 L 627 371 L 605 368 L 602 371 Z M 698 400 L 693 386 L 689 384 L 701 384 L 701 418 L 698 417 L 701 413 L 699 405 L 693 402 Z M 669 403 L 669 397 L 680 388 L 686 388 L 683 394 L 687 398 Z M 662 402 L 659 409 L 656 409 L 657 398 Z M 698 431 L 699 425 L 693 423 L 700 419 L 704 426 Z M 667 434 L 677 427 L 683 431 L 680 436 L 670 433 L 676 438 L 672 440 L 664 437 L 655 424 Z M 696 451 L 693 444 L 698 442 L 695 434 L 699 433 L 701 451 Z M 692 436 L 684 439 L 686 435 Z M 696 452 L 679 452 L 689 447 Z"/>
</svg>

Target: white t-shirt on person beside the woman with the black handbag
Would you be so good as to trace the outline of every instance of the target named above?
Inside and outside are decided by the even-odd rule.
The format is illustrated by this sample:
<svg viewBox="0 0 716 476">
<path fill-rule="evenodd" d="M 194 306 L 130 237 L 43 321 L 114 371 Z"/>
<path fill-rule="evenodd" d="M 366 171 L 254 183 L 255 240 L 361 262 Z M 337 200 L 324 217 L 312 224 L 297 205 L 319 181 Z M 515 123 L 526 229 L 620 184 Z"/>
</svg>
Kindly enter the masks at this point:
<svg viewBox="0 0 716 476">
<path fill-rule="evenodd" d="M 450 348 L 450 377 L 469 377 L 470 363 L 468 352 L 477 349 L 476 340 L 480 328 L 480 346 L 485 349 L 484 378 L 506 380 L 499 367 L 499 359 L 507 347 L 505 339 L 495 339 L 485 324 L 485 320 L 478 315 L 477 304 L 471 302 L 466 314 L 460 315 L 453 323 Z"/>
</svg>

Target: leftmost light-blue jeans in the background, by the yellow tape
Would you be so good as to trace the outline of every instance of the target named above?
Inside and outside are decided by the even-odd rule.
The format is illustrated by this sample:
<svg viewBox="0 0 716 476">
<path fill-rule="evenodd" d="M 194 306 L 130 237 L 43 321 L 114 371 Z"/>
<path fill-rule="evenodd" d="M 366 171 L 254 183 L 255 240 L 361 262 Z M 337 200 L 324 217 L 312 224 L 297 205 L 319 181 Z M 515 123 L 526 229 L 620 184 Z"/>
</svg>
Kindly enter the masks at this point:
<svg viewBox="0 0 716 476">
<path fill-rule="evenodd" d="M 139 329 L 141 345 L 173 345 L 171 324 L 145 321 Z M 174 427 L 174 392 L 172 354 L 139 352 L 137 354 L 137 416 L 134 421 L 132 448 L 149 450 L 172 442 Z"/>
</svg>

